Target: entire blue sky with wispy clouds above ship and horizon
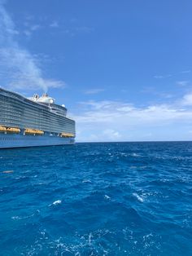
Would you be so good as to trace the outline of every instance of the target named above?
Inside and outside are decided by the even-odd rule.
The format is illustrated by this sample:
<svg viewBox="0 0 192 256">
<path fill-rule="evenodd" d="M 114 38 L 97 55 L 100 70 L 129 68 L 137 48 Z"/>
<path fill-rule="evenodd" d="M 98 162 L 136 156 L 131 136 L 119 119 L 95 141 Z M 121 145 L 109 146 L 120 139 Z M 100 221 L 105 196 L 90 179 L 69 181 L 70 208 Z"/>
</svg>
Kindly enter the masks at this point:
<svg viewBox="0 0 192 256">
<path fill-rule="evenodd" d="M 0 85 L 47 90 L 77 141 L 192 139 L 192 2 L 0 0 Z"/>
</svg>

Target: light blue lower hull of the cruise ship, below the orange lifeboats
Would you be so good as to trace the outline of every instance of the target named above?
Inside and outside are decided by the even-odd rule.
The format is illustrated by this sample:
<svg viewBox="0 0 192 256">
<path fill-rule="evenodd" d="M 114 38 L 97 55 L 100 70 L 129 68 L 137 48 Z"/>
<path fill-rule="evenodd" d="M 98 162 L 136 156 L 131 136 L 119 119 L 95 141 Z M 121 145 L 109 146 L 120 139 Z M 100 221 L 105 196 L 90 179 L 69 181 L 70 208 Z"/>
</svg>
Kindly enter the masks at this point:
<svg viewBox="0 0 192 256">
<path fill-rule="evenodd" d="M 57 146 L 73 144 L 72 138 L 61 138 L 51 135 L 22 135 L 22 134 L 1 134 L 0 148 L 26 148 L 41 146 Z"/>
</svg>

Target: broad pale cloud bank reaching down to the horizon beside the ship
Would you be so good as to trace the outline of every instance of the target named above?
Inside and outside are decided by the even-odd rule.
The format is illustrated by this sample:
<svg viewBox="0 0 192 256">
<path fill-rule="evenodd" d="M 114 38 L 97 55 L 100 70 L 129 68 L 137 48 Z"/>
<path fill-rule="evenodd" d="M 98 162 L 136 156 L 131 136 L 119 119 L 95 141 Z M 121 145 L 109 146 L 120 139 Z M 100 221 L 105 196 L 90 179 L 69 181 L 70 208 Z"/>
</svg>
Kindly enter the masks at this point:
<svg viewBox="0 0 192 256">
<path fill-rule="evenodd" d="M 172 139 L 173 129 L 176 130 L 177 126 L 192 126 L 190 104 L 192 105 L 192 95 L 185 95 L 182 102 L 154 104 L 141 108 L 119 101 L 83 102 L 81 103 L 83 113 L 73 115 L 80 133 L 77 139 L 80 141 Z M 163 130 L 166 131 L 165 135 Z M 177 133 L 177 139 L 179 138 Z"/>
</svg>

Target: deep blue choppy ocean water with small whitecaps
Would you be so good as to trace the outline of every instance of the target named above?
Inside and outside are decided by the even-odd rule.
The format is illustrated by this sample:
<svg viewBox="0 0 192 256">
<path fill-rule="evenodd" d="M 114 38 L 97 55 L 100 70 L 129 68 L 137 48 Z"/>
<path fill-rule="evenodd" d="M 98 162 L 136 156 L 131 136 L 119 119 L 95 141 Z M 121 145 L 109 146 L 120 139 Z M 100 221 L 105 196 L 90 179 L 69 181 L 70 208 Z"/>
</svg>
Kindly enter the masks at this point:
<svg viewBox="0 0 192 256">
<path fill-rule="evenodd" d="M 0 255 L 192 255 L 192 143 L 0 150 Z"/>
</svg>

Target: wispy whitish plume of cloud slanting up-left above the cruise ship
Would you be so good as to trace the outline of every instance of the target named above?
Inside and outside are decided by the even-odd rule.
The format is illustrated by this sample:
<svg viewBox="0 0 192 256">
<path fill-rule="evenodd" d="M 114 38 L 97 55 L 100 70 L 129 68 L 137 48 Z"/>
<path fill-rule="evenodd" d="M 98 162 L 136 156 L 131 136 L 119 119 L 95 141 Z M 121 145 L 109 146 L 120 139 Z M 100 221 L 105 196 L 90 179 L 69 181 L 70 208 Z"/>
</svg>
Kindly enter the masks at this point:
<svg viewBox="0 0 192 256">
<path fill-rule="evenodd" d="M 35 25 L 32 29 L 39 29 Z M 39 63 L 29 51 L 17 42 L 17 30 L 10 15 L 0 2 L 0 82 L 12 90 L 44 90 L 62 87 L 64 82 L 42 75 Z"/>
</svg>

